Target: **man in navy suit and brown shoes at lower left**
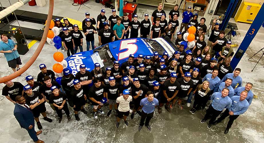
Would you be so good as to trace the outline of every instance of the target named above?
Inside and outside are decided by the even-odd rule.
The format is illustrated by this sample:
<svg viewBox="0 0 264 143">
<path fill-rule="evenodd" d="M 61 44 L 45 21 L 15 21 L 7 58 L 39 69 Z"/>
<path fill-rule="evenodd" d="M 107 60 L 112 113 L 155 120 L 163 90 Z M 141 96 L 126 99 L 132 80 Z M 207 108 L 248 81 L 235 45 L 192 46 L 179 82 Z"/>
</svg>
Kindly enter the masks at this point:
<svg viewBox="0 0 264 143">
<path fill-rule="evenodd" d="M 29 136 L 33 139 L 34 142 L 44 143 L 44 141 L 39 140 L 37 137 L 37 135 L 41 134 L 42 131 L 35 131 L 34 116 L 31 109 L 26 104 L 25 98 L 21 95 L 18 95 L 15 97 L 15 100 L 17 104 L 15 104 L 14 116 L 20 124 L 21 128 L 27 130 Z"/>
</svg>

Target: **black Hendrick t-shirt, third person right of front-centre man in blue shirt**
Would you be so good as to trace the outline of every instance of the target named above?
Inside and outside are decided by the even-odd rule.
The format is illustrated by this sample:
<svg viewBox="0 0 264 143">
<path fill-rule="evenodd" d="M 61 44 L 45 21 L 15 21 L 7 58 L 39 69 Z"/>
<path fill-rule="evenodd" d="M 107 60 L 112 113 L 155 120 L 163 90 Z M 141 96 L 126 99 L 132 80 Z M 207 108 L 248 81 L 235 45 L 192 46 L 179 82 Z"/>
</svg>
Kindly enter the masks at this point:
<svg viewBox="0 0 264 143">
<path fill-rule="evenodd" d="M 186 83 L 184 81 L 184 77 L 181 77 L 181 78 L 177 79 L 176 81 L 178 81 L 180 83 L 180 89 L 179 89 L 177 96 L 180 98 L 186 97 L 189 89 L 191 89 L 193 87 L 192 80 L 190 80 Z"/>
</svg>

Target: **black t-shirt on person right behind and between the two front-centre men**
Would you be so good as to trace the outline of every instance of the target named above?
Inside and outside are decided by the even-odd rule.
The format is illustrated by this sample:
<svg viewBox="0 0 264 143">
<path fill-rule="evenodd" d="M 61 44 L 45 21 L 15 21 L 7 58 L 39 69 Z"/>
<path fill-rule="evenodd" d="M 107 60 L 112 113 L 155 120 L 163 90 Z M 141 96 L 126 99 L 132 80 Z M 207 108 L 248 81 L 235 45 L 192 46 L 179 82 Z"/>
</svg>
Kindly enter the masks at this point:
<svg viewBox="0 0 264 143">
<path fill-rule="evenodd" d="M 145 95 L 147 95 L 148 88 L 146 85 L 140 83 L 140 87 L 137 88 L 135 86 L 131 87 L 131 96 L 137 96 L 137 93 L 139 93 L 139 90 L 141 90 L 141 93 L 137 99 L 133 98 L 133 101 L 135 103 L 140 103 L 141 99 L 145 98 Z"/>
</svg>

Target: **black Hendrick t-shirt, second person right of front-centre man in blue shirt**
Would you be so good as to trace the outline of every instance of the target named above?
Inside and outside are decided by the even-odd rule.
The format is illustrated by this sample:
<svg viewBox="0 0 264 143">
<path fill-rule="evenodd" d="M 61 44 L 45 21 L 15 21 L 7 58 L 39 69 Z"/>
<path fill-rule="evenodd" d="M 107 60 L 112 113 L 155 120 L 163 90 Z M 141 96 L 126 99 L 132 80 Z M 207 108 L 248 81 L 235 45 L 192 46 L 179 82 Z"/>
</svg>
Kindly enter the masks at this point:
<svg viewBox="0 0 264 143">
<path fill-rule="evenodd" d="M 178 81 L 171 83 L 170 80 L 167 80 L 162 85 L 162 91 L 166 91 L 169 98 L 172 97 L 177 90 L 180 90 L 180 83 Z"/>
</svg>

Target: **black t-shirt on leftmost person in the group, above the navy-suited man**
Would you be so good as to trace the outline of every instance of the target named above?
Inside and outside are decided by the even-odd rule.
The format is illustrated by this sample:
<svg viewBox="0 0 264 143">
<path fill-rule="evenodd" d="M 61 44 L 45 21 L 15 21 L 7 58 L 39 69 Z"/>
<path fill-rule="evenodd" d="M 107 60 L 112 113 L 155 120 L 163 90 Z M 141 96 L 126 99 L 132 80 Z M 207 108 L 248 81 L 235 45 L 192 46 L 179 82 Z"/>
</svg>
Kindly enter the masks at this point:
<svg viewBox="0 0 264 143">
<path fill-rule="evenodd" d="M 12 87 L 8 87 L 5 85 L 2 89 L 3 96 L 10 96 L 10 98 L 15 101 L 15 97 L 17 95 L 22 95 L 23 85 L 20 82 L 13 82 L 14 85 Z"/>
</svg>

